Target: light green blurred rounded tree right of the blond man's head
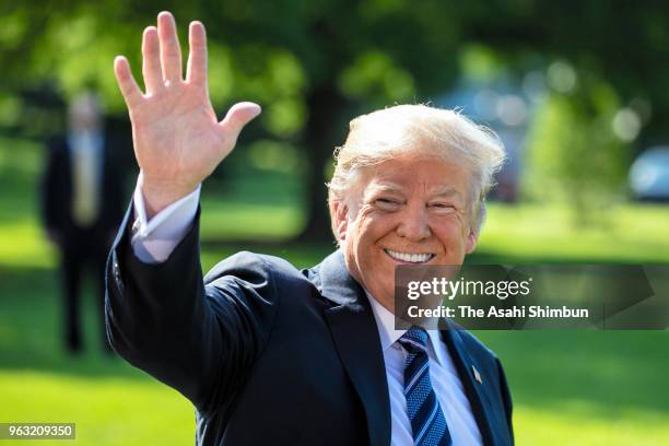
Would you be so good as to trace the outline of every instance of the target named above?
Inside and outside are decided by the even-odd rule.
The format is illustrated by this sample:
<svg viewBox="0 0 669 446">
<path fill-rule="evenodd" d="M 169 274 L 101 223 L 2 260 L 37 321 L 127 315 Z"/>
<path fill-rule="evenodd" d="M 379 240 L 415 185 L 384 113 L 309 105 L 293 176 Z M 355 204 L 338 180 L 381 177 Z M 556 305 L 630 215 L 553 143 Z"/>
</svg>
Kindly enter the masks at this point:
<svg viewBox="0 0 669 446">
<path fill-rule="evenodd" d="M 528 141 L 527 193 L 567 202 L 578 223 L 601 219 L 597 211 L 621 201 L 630 165 L 627 141 L 612 125 L 619 98 L 610 85 L 589 82 L 544 98 Z"/>
</svg>

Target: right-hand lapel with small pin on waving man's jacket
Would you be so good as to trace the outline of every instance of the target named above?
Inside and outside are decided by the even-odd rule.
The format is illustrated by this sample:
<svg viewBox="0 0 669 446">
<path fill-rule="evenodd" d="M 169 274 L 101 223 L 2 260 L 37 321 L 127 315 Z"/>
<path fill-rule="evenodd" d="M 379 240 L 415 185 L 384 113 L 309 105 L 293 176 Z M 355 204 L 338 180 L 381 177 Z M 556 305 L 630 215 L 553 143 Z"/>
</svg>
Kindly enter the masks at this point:
<svg viewBox="0 0 669 446">
<path fill-rule="evenodd" d="M 443 330 L 442 339 L 444 339 L 444 342 L 448 348 L 448 352 L 453 357 L 453 362 L 458 371 L 460 380 L 462 382 L 465 394 L 469 399 L 471 410 L 479 426 L 479 431 L 481 432 L 483 444 L 500 444 L 495 442 L 493 437 L 493 432 L 495 430 L 493 430 L 490 424 L 491 414 L 488 413 L 491 406 L 489 401 L 490 398 L 484 395 L 488 389 L 486 385 L 490 386 L 490 383 L 486 384 L 485 382 L 479 382 L 480 376 L 479 380 L 477 379 L 477 374 L 479 374 L 479 371 L 476 368 L 474 362 L 467 352 L 457 328 L 450 327 L 447 330 Z"/>
</svg>

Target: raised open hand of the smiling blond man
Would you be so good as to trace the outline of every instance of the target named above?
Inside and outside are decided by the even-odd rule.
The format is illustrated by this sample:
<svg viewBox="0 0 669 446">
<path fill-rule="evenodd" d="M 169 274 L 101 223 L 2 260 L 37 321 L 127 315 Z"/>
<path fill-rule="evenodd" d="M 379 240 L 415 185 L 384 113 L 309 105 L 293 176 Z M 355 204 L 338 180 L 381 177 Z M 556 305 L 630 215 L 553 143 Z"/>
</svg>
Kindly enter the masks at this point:
<svg viewBox="0 0 669 446">
<path fill-rule="evenodd" d="M 188 30 L 186 80 L 176 24 L 169 12 L 157 16 L 142 38 L 142 94 L 128 60 L 118 56 L 114 72 L 132 122 L 134 156 L 148 216 L 190 193 L 235 146 L 244 126 L 260 114 L 254 103 L 235 104 L 222 121 L 209 101 L 207 37 L 200 22 Z"/>
</svg>

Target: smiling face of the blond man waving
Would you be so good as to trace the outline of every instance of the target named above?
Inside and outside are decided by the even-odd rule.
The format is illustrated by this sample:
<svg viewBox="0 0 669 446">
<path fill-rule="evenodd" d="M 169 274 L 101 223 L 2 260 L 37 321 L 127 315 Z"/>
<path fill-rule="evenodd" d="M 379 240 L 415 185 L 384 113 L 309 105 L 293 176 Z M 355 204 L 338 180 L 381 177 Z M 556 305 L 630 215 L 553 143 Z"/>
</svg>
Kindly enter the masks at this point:
<svg viewBox="0 0 669 446">
<path fill-rule="evenodd" d="M 334 204 L 351 275 L 392 312 L 396 266 L 461 265 L 477 243 L 470 188 L 466 169 L 435 156 L 366 167 L 350 198 Z"/>
</svg>

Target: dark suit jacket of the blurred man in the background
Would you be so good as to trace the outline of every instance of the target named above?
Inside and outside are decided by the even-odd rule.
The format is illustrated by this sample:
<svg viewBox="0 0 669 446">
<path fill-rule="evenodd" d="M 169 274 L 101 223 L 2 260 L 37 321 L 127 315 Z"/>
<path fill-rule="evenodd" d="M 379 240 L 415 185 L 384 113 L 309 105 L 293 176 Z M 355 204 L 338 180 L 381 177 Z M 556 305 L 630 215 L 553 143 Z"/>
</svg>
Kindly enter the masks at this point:
<svg viewBox="0 0 669 446">
<path fill-rule="evenodd" d="M 97 221 L 91 231 L 99 233 L 101 240 L 108 243 L 109 233 L 118 227 L 124 216 L 124 195 L 120 169 L 113 148 L 105 139 L 101 185 L 101 206 Z M 42 184 L 42 213 L 49 230 L 61 233 L 66 243 L 77 243 L 81 230 L 73 221 L 71 150 L 66 138 L 56 138 L 48 144 L 48 159 Z"/>
</svg>

